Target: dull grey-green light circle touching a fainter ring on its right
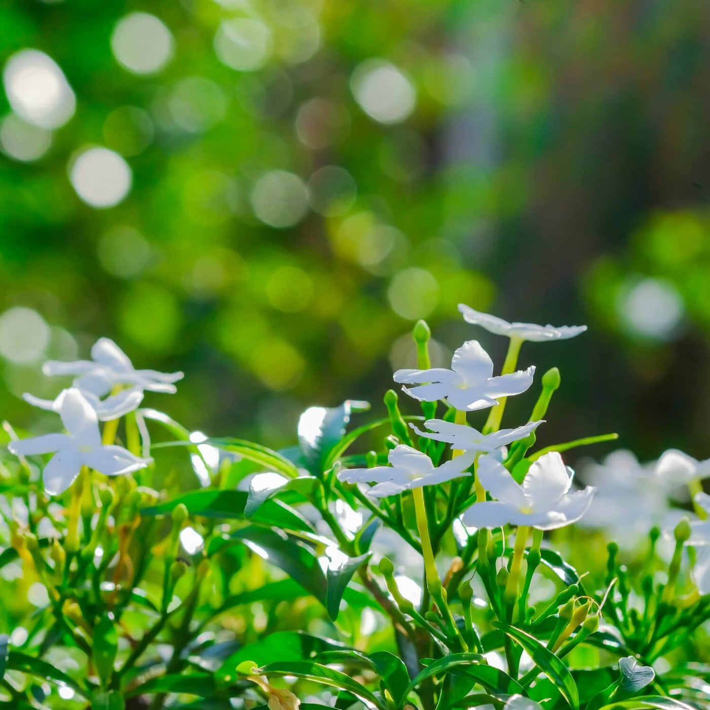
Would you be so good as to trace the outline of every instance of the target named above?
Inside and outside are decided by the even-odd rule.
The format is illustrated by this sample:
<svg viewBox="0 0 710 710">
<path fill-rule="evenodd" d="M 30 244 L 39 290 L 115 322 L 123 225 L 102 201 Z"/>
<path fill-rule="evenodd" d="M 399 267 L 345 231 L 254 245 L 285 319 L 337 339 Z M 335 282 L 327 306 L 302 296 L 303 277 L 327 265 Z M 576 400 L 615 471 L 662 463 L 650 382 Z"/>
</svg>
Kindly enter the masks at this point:
<svg viewBox="0 0 710 710">
<path fill-rule="evenodd" d="M 266 224 L 279 228 L 293 226 L 307 212 L 306 187 L 297 175 L 273 170 L 254 185 L 251 206 L 256 217 Z"/>
</svg>

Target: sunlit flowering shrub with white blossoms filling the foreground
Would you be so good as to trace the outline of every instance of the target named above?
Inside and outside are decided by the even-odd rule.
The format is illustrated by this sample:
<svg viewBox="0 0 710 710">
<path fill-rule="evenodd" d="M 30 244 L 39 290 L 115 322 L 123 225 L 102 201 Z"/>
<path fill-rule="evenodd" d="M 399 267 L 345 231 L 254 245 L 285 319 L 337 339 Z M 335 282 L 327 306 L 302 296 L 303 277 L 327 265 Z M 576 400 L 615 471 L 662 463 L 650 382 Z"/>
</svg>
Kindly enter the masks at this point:
<svg viewBox="0 0 710 710">
<path fill-rule="evenodd" d="M 535 367 L 517 367 L 523 342 L 584 327 L 460 310 L 510 339 L 500 374 L 476 340 L 432 368 L 419 322 L 417 368 L 394 373 L 403 402 L 388 391 L 386 416 L 355 428 L 368 403 L 312 407 L 281 452 L 141 408 L 182 373 L 136 370 L 108 339 L 91 360 L 45 364 L 73 383 L 26 399 L 65 433 L 4 425 L 6 702 L 706 709 L 709 462 L 610 457 L 588 476 L 599 490 L 578 486 L 562 454 L 615 435 L 536 448 L 560 374 L 536 386 Z M 501 428 L 507 398 L 525 393 L 528 422 Z M 589 511 L 608 528 L 614 501 L 643 518 L 644 486 L 689 490 L 694 513 L 675 505 L 662 530 L 648 510 L 643 540 L 608 542 L 600 564 L 598 533 L 567 526 Z"/>
</svg>

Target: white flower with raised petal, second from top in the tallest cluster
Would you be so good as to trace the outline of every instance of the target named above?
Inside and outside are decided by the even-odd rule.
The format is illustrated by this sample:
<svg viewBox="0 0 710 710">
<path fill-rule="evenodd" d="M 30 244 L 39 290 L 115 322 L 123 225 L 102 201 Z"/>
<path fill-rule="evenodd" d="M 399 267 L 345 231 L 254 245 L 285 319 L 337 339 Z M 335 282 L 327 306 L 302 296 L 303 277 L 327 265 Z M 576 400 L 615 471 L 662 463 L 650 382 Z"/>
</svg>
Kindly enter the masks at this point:
<svg viewBox="0 0 710 710">
<path fill-rule="evenodd" d="M 417 384 L 402 390 L 424 402 L 445 399 L 459 410 L 486 409 L 498 404 L 498 397 L 525 392 L 532 385 L 535 366 L 509 375 L 493 377 L 493 361 L 477 340 L 469 340 L 454 353 L 451 369 L 398 370 L 395 382 Z M 427 384 L 425 384 L 427 383 Z"/>
</svg>

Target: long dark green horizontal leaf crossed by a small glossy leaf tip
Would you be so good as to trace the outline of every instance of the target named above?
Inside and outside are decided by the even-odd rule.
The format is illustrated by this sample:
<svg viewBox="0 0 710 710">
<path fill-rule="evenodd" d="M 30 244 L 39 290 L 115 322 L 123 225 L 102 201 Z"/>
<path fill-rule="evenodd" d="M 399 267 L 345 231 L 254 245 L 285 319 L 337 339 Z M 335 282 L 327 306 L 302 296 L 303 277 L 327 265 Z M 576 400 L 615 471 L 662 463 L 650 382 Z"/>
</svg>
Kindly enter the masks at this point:
<svg viewBox="0 0 710 710">
<path fill-rule="evenodd" d="M 190 515 L 202 515 L 204 518 L 244 518 L 244 509 L 249 493 L 246 491 L 219 491 L 215 488 L 202 488 L 200 491 L 184 493 L 172 501 L 160 503 L 141 510 L 141 515 L 167 515 L 182 503 Z M 287 530 L 313 532 L 312 525 L 297 510 L 281 501 L 265 501 L 253 515 L 253 520 L 264 525 L 275 525 Z"/>
</svg>

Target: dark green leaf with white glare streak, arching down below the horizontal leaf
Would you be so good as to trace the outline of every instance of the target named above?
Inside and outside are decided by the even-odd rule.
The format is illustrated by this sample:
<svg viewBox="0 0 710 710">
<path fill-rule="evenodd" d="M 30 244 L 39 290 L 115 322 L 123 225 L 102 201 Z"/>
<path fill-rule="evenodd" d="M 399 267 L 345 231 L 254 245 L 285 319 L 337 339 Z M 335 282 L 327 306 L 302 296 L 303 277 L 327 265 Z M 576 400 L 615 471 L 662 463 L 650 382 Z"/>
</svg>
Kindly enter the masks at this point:
<svg viewBox="0 0 710 710">
<path fill-rule="evenodd" d="M 223 547 L 225 542 L 241 542 L 246 545 L 256 555 L 283 569 L 291 579 L 307 589 L 327 608 L 327 581 L 318 558 L 311 552 L 310 547 L 288 537 L 283 530 L 249 525 L 232 532 L 226 540 L 212 540 L 209 554 Z"/>
</svg>

